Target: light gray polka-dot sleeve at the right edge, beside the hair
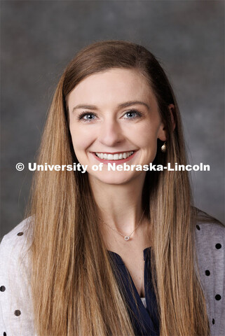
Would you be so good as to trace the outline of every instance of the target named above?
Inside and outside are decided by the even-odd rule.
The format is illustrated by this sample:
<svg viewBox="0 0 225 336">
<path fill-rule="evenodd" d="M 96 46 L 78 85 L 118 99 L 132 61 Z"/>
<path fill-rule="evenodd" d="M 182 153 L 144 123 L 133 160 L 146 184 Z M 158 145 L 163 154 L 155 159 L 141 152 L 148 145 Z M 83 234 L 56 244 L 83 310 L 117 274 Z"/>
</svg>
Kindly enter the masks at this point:
<svg viewBox="0 0 225 336">
<path fill-rule="evenodd" d="M 211 336 L 225 335 L 225 228 L 219 223 L 196 225 L 196 251 Z"/>
</svg>

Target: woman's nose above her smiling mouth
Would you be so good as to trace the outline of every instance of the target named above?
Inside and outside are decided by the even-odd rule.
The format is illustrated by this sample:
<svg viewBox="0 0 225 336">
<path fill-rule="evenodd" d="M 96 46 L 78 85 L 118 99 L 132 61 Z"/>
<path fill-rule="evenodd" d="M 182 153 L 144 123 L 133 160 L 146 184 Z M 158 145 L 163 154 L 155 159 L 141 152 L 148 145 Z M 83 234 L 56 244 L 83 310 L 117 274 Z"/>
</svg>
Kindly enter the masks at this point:
<svg viewBox="0 0 225 336">
<path fill-rule="evenodd" d="M 116 120 L 102 123 L 98 139 L 105 146 L 115 146 L 123 141 L 123 133 Z"/>
</svg>

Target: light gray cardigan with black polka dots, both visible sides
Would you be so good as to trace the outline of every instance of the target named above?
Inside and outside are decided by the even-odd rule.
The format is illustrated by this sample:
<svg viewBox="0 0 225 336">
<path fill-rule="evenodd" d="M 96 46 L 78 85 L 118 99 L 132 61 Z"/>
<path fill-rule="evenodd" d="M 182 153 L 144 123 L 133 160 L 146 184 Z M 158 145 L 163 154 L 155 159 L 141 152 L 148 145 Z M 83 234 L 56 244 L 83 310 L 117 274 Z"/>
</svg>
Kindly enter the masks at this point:
<svg viewBox="0 0 225 336">
<path fill-rule="evenodd" d="M 0 244 L 0 336 L 37 336 L 26 221 L 5 235 Z M 217 223 L 196 225 L 198 270 L 212 336 L 225 335 L 224 232 L 224 226 Z"/>
</svg>

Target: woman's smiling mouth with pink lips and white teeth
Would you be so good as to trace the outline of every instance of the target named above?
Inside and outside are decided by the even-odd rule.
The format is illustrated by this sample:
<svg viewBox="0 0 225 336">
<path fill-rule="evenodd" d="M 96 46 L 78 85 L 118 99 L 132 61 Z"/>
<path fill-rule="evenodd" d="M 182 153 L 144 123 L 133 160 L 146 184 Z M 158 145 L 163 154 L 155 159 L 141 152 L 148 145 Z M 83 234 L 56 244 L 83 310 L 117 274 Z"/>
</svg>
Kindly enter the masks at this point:
<svg viewBox="0 0 225 336">
<path fill-rule="evenodd" d="M 123 163 L 130 160 L 134 155 L 135 151 L 127 151 L 127 152 L 116 152 L 116 153 L 102 153 L 95 152 L 95 158 L 103 163 Z"/>
</svg>

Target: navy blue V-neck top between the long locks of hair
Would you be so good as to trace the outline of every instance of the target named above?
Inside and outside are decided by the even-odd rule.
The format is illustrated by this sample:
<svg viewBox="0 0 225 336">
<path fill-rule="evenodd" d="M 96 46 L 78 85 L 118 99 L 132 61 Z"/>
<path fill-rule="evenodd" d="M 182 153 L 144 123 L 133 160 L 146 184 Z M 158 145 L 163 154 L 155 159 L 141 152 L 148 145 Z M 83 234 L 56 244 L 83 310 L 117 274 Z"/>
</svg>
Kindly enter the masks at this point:
<svg viewBox="0 0 225 336">
<path fill-rule="evenodd" d="M 132 281 L 132 277 L 125 267 L 120 255 L 115 252 L 108 251 L 111 260 L 117 267 L 114 269 L 116 280 L 119 288 L 125 295 L 128 311 L 132 321 L 135 335 L 138 336 L 158 336 L 159 335 L 159 319 L 156 304 L 156 295 L 154 293 L 151 281 L 151 248 L 145 248 L 144 253 L 144 292 L 146 300 L 146 308 L 142 303 L 137 292 L 137 288 Z M 130 281 L 129 281 L 130 279 Z M 136 302 L 135 302 L 136 300 Z"/>
</svg>

